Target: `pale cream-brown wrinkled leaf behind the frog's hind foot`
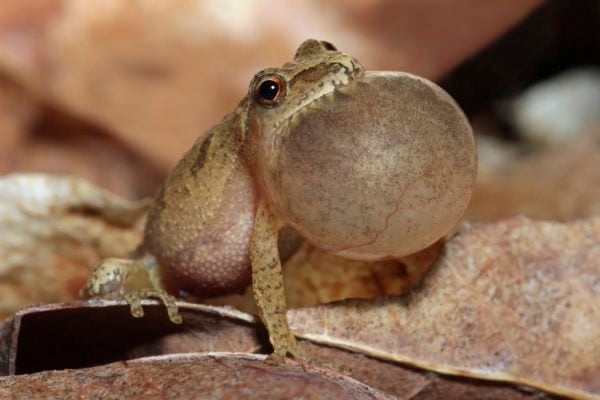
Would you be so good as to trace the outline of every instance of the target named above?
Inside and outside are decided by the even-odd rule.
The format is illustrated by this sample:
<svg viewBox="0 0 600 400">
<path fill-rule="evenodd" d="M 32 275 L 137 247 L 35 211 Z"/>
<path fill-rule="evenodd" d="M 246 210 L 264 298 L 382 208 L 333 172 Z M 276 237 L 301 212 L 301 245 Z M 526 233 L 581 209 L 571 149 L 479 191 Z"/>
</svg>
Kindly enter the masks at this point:
<svg viewBox="0 0 600 400">
<path fill-rule="evenodd" d="M 0 316 L 77 298 L 95 262 L 138 245 L 147 206 L 76 178 L 0 179 Z"/>
</svg>

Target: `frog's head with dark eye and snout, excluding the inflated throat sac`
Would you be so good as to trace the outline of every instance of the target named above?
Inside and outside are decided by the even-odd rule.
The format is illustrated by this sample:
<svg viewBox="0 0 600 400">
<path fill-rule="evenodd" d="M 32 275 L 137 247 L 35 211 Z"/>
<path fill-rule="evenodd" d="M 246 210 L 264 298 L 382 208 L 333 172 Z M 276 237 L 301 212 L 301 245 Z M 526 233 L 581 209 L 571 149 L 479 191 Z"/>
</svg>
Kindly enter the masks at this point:
<svg viewBox="0 0 600 400">
<path fill-rule="evenodd" d="M 249 121 L 277 128 L 313 101 L 357 79 L 364 69 L 329 42 L 308 39 L 281 68 L 258 72 L 248 91 Z"/>
</svg>

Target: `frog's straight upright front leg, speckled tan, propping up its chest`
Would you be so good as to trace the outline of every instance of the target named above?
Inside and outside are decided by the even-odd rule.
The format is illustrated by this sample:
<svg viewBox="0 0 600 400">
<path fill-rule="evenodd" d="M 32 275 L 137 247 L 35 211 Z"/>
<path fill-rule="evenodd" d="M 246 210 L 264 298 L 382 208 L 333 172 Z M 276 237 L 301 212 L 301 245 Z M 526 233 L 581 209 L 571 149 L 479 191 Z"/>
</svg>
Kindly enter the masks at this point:
<svg viewBox="0 0 600 400">
<path fill-rule="evenodd" d="M 279 364 L 290 355 L 295 359 L 308 361 L 308 356 L 296 342 L 287 322 L 281 260 L 277 249 L 278 231 L 276 218 L 266 202 L 261 200 L 250 242 L 254 299 L 273 345 L 270 360 Z"/>
</svg>

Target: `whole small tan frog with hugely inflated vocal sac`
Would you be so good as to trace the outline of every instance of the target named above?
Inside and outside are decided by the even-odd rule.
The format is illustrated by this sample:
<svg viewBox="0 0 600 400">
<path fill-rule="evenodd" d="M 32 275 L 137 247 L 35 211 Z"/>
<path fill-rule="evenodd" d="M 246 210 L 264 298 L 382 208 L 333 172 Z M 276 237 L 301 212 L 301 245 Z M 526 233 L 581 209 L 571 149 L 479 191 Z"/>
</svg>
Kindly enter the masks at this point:
<svg viewBox="0 0 600 400">
<path fill-rule="evenodd" d="M 184 155 L 136 254 L 102 261 L 85 291 L 124 295 L 138 316 L 140 298 L 159 297 L 179 322 L 166 292 L 220 295 L 251 281 L 272 359 L 305 358 L 286 320 L 282 229 L 280 247 L 297 232 L 343 257 L 401 257 L 455 225 L 475 175 L 470 126 L 442 89 L 367 72 L 307 40 L 292 61 L 256 74 L 237 109 Z"/>
</svg>

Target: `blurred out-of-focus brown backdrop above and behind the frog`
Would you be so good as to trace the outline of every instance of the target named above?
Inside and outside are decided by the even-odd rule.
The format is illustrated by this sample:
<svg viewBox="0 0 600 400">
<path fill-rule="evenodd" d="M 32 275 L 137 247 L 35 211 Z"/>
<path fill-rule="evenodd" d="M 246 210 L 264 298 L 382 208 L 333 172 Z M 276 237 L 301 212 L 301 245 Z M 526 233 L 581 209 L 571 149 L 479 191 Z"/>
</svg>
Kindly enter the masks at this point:
<svg viewBox="0 0 600 400">
<path fill-rule="evenodd" d="M 457 99 L 480 147 L 469 219 L 592 215 L 599 4 L 1 0 L 0 174 L 72 174 L 153 196 L 256 71 L 313 37 Z"/>
</svg>

